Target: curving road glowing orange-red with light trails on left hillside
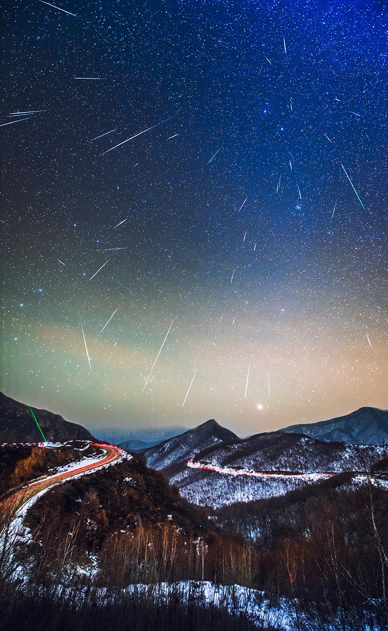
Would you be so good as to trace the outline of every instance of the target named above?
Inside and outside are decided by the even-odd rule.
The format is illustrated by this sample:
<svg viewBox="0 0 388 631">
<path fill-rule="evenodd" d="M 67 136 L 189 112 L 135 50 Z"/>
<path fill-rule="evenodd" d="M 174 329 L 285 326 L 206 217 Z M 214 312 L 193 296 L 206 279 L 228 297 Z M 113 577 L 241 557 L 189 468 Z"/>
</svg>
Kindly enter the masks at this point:
<svg viewBox="0 0 388 631">
<path fill-rule="evenodd" d="M 79 466 L 76 468 L 71 468 L 68 469 L 68 471 L 62 471 L 61 473 L 56 473 L 54 475 L 46 476 L 43 479 L 40 478 L 39 480 L 30 482 L 26 487 L 13 493 L 13 495 L 5 500 L 3 504 L 0 504 L 0 511 L 3 513 L 10 511 L 11 514 L 15 515 L 15 512 L 18 512 L 21 507 L 31 500 L 34 495 L 37 495 L 37 493 L 66 480 L 71 480 L 82 473 L 93 473 L 94 471 L 98 471 L 98 469 L 101 469 L 103 466 L 112 464 L 122 457 L 121 449 L 119 449 L 119 447 L 115 447 L 115 445 L 105 445 L 100 443 L 91 443 L 91 445 L 93 447 L 100 447 L 100 449 L 103 449 L 107 455 L 103 458 L 100 457 L 99 459 L 96 459 L 94 462 L 89 462 L 88 464 L 82 464 L 82 462 L 79 462 Z M 49 447 L 42 447 L 42 449 L 49 449 Z"/>
</svg>

